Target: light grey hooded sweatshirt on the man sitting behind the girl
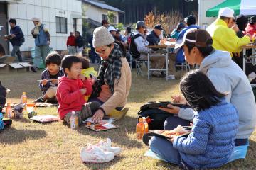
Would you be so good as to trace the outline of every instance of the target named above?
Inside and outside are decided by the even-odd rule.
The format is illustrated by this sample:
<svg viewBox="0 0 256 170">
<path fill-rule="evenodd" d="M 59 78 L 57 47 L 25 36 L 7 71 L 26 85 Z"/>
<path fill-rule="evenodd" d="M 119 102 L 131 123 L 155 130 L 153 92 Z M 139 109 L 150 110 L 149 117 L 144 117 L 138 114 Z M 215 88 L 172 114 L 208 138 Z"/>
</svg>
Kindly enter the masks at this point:
<svg viewBox="0 0 256 170">
<path fill-rule="evenodd" d="M 238 109 L 239 127 L 236 139 L 250 137 L 256 125 L 256 104 L 252 87 L 242 69 L 231 60 L 230 53 L 215 50 L 201 62 L 201 72 L 205 73 L 220 92 L 228 92 L 226 100 Z M 193 120 L 191 108 L 181 108 L 178 116 Z"/>
</svg>

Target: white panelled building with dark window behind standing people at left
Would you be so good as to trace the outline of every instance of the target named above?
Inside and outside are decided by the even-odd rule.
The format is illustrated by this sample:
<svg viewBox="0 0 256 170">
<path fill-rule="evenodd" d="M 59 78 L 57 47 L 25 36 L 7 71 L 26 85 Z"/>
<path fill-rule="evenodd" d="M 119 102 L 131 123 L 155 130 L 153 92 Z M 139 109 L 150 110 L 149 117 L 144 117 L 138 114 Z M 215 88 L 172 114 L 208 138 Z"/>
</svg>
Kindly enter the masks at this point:
<svg viewBox="0 0 256 170">
<path fill-rule="evenodd" d="M 0 39 L 9 33 L 9 18 L 16 18 L 17 25 L 23 30 L 25 42 L 21 51 L 30 51 L 35 46 L 31 29 L 31 18 L 38 16 L 49 28 L 50 47 L 53 50 L 66 50 L 66 40 L 70 31 L 78 30 L 82 35 L 82 2 L 80 0 L 0 0 Z M 11 51 L 11 44 L 3 40 L 6 51 Z M 6 44 L 4 44 L 6 43 Z"/>
</svg>

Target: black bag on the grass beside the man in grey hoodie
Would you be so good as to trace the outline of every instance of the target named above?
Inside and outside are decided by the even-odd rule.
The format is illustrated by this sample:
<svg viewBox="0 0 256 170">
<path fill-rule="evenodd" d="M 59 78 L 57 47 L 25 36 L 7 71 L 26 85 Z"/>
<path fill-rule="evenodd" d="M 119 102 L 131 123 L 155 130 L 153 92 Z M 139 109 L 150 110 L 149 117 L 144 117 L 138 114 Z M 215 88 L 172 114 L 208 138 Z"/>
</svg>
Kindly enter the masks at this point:
<svg viewBox="0 0 256 170">
<path fill-rule="evenodd" d="M 158 108 L 164 107 L 166 108 L 168 104 L 178 106 L 180 108 L 187 108 L 188 106 L 183 104 L 171 103 L 169 101 L 151 101 L 140 107 L 140 111 L 138 112 L 137 121 L 139 118 L 145 117 L 147 118 L 147 122 L 149 124 L 149 130 L 163 130 L 164 129 L 164 121 L 166 118 L 172 116 L 171 113 L 166 111 L 161 111 Z"/>
</svg>

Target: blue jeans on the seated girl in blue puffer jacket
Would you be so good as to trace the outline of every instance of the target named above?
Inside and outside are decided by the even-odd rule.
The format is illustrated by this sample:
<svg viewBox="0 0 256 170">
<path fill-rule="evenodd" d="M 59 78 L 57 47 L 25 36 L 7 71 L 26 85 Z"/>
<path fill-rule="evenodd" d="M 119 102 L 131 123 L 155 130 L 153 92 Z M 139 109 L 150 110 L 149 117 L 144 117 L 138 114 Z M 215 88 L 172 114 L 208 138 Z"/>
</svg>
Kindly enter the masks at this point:
<svg viewBox="0 0 256 170">
<path fill-rule="evenodd" d="M 152 152 L 158 154 L 166 162 L 177 165 L 181 163 L 181 156 L 178 150 L 173 147 L 169 140 L 154 136 L 149 140 L 149 147 Z"/>
</svg>

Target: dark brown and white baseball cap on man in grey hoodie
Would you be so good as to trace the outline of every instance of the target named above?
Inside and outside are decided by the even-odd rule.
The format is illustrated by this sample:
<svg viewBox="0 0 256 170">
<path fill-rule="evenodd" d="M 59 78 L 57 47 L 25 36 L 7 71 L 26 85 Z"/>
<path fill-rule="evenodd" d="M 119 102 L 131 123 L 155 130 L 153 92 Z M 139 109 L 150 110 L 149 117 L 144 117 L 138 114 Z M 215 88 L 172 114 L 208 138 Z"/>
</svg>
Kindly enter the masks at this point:
<svg viewBox="0 0 256 170">
<path fill-rule="evenodd" d="M 196 46 L 196 47 L 209 47 L 213 44 L 213 39 L 210 34 L 203 29 L 191 28 L 186 31 L 183 40 L 176 43 L 175 49 L 183 47 L 183 45 Z"/>
</svg>

